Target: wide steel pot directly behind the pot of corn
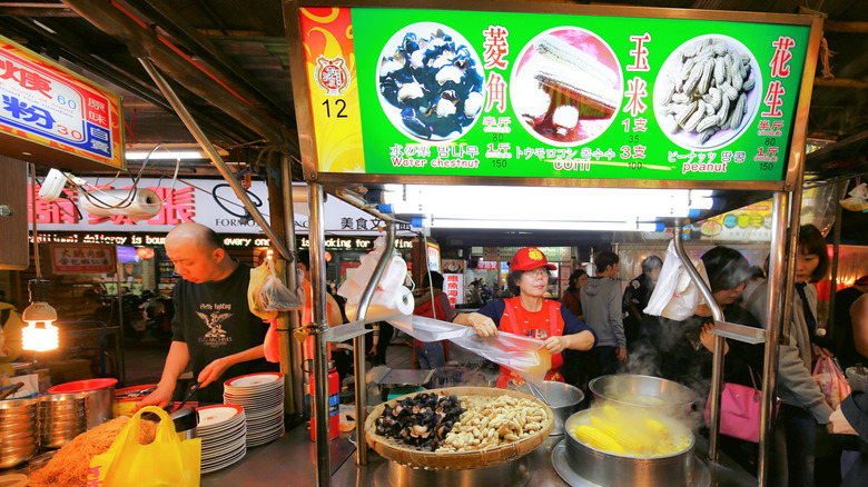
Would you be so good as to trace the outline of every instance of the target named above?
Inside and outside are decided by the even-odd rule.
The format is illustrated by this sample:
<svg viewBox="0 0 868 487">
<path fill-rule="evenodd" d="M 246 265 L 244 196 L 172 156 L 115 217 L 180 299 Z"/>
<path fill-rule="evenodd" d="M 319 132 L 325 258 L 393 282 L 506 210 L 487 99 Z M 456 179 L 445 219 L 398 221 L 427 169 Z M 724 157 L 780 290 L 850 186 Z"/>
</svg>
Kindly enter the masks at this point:
<svg viewBox="0 0 868 487">
<path fill-rule="evenodd" d="M 588 388 L 595 401 L 611 401 L 621 407 L 641 408 L 668 416 L 683 416 L 690 413 L 696 394 L 688 387 L 660 377 L 617 374 L 601 376 Z"/>
</svg>

